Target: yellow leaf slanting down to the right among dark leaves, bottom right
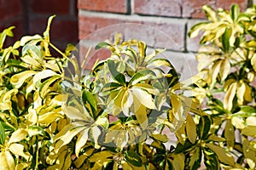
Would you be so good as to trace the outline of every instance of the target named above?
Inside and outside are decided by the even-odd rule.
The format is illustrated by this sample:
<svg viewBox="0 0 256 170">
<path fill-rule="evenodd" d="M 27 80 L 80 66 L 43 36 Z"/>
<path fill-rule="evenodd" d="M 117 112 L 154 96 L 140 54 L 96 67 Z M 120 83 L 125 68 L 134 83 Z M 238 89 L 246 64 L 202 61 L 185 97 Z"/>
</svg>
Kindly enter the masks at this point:
<svg viewBox="0 0 256 170">
<path fill-rule="evenodd" d="M 206 144 L 206 146 L 218 156 L 219 161 L 223 162 L 224 164 L 234 166 L 234 158 L 230 156 L 230 154 L 228 154 L 228 152 L 224 150 L 224 148 L 221 148 L 215 144 Z"/>
</svg>

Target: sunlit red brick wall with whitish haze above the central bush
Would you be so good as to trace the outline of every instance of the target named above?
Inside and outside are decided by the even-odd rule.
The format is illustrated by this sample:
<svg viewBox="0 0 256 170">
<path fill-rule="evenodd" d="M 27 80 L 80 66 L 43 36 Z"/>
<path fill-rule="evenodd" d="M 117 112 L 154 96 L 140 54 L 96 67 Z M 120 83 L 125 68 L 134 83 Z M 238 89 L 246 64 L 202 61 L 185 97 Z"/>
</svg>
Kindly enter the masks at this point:
<svg viewBox="0 0 256 170">
<path fill-rule="evenodd" d="M 166 57 L 173 60 L 183 75 L 195 72 L 198 39 L 189 39 L 189 28 L 205 19 L 204 4 L 229 9 L 238 3 L 241 10 L 252 0 L 78 0 L 79 40 L 87 49 L 96 42 L 111 38 L 113 32 L 141 39 L 154 48 L 167 48 Z M 129 24 L 128 24 L 129 23 Z M 93 52 L 94 53 L 94 52 Z M 89 67 L 102 57 L 92 54 Z M 108 54 L 107 54 L 108 55 Z M 103 55 L 106 58 L 106 55 Z M 189 70 L 189 66 L 190 69 Z M 189 73 L 190 74 L 190 73 Z"/>
</svg>

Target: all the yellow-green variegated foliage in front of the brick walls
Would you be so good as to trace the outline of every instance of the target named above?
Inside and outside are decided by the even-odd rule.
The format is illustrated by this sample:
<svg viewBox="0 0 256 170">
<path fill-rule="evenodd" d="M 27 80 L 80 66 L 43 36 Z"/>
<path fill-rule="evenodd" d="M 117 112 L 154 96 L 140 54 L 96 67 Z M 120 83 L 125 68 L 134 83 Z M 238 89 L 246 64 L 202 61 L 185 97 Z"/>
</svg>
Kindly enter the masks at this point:
<svg viewBox="0 0 256 170">
<path fill-rule="evenodd" d="M 5 29 L 0 169 L 254 169 L 256 6 L 203 9 L 208 21 L 189 31 L 203 32 L 199 75 L 183 82 L 164 50 L 119 33 L 95 47 L 111 57 L 84 73 L 90 50 L 79 66 L 73 45 L 56 48 L 54 16 L 43 36 L 9 48 Z"/>
</svg>

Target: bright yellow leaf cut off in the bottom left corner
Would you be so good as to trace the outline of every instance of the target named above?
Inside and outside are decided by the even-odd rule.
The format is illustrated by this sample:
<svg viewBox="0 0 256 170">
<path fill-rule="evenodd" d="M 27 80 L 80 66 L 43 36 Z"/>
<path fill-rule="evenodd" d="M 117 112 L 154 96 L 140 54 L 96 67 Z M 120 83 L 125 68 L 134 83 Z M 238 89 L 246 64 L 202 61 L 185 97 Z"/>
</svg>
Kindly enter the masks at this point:
<svg viewBox="0 0 256 170">
<path fill-rule="evenodd" d="M 0 170 L 14 170 L 15 160 L 9 150 L 0 152 Z"/>
</svg>

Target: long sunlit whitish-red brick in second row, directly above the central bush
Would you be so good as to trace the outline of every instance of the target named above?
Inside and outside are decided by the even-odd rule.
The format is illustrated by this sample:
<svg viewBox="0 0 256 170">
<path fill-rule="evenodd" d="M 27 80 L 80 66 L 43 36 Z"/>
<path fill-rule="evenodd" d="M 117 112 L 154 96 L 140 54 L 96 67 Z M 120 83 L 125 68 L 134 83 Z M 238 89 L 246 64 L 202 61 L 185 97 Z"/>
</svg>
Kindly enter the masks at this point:
<svg viewBox="0 0 256 170">
<path fill-rule="evenodd" d="M 183 50 L 184 28 L 185 23 L 177 20 L 154 22 L 79 16 L 79 40 L 102 42 L 114 32 L 121 32 L 125 39 L 143 40 L 151 47 Z"/>
</svg>

